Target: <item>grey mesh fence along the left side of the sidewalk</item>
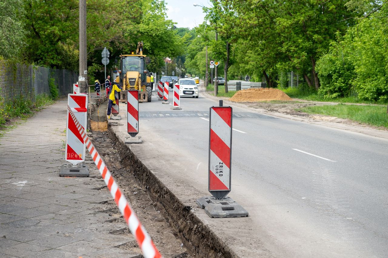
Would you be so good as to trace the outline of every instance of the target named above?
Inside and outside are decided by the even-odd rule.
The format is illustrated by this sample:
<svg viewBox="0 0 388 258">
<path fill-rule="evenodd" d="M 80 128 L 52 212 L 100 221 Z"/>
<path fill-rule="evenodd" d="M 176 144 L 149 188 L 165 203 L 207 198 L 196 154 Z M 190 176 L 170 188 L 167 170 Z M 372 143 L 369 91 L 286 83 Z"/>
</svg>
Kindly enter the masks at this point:
<svg viewBox="0 0 388 258">
<path fill-rule="evenodd" d="M 3 100 L 1 102 L 4 103 L 20 96 L 35 100 L 38 94 L 50 94 L 50 78 L 54 78 L 59 95 L 62 96 L 72 93 L 73 83 L 78 81 L 78 74 L 74 71 L 0 60 L 0 96 Z"/>
</svg>

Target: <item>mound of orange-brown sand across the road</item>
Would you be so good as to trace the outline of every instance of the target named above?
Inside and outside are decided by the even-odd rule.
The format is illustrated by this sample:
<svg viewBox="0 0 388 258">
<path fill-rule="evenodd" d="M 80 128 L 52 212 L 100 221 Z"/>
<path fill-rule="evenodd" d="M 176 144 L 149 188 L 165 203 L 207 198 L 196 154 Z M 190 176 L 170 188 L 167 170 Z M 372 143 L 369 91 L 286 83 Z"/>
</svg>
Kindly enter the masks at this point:
<svg viewBox="0 0 388 258">
<path fill-rule="evenodd" d="M 269 100 L 291 100 L 291 98 L 279 89 L 260 88 L 260 89 L 242 89 L 237 91 L 232 98 L 234 102 L 252 102 Z"/>
</svg>

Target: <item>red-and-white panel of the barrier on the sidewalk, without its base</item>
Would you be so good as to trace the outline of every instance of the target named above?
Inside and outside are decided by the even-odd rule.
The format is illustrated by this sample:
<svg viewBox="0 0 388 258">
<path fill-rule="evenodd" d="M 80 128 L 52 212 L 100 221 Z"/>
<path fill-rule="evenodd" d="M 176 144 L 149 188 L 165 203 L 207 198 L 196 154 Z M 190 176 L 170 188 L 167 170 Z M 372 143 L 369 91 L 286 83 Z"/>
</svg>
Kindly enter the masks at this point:
<svg viewBox="0 0 388 258">
<path fill-rule="evenodd" d="M 68 106 L 73 111 L 76 119 L 80 122 L 80 126 L 85 128 L 88 111 L 88 96 L 84 94 L 68 94 Z M 71 119 L 69 112 L 66 122 L 65 159 L 73 164 L 73 166 L 85 160 L 85 144 L 73 119 Z"/>
</svg>

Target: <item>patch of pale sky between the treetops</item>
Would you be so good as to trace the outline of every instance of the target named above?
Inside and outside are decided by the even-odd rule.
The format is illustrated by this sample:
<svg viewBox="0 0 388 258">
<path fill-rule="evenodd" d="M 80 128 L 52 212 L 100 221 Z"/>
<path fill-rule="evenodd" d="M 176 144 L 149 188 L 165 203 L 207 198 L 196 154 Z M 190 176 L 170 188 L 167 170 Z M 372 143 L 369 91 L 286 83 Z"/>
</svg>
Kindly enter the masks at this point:
<svg viewBox="0 0 388 258">
<path fill-rule="evenodd" d="M 207 0 L 165 0 L 168 9 L 168 19 L 177 22 L 178 28 L 194 28 L 203 22 L 205 14 L 201 7 L 194 4 L 210 7 Z"/>
</svg>

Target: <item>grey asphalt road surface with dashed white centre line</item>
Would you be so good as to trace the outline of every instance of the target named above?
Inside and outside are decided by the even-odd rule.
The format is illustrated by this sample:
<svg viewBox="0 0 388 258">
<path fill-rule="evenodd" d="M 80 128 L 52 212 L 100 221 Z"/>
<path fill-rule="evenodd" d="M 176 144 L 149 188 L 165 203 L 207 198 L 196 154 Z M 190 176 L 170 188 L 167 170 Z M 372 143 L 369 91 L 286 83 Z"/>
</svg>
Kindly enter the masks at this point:
<svg viewBox="0 0 388 258">
<path fill-rule="evenodd" d="M 170 98 L 172 97 L 170 89 Z M 172 101 L 170 101 L 172 102 Z M 180 153 L 180 179 L 207 189 L 209 107 L 140 104 L 140 131 Z M 386 139 L 233 108 L 232 191 L 251 231 L 275 256 L 386 257 Z M 238 230 L 238 229 L 236 229 Z M 240 232 L 241 233 L 241 232 Z"/>
</svg>

